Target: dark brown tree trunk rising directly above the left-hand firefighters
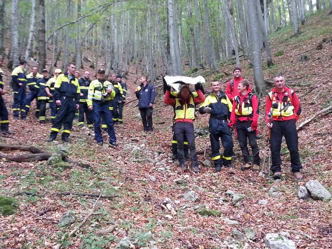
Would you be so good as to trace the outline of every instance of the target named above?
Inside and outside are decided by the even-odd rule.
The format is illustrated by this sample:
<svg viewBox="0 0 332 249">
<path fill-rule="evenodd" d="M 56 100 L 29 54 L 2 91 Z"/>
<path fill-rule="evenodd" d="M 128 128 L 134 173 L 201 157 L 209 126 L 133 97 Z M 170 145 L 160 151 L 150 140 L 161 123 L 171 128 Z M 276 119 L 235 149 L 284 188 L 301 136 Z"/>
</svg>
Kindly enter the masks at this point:
<svg viewBox="0 0 332 249">
<path fill-rule="evenodd" d="M 38 30 L 38 70 L 41 72 L 46 66 L 46 41 L 45 41 L 45 1 L 39 0 L 39 30 Z"/>
</svg>

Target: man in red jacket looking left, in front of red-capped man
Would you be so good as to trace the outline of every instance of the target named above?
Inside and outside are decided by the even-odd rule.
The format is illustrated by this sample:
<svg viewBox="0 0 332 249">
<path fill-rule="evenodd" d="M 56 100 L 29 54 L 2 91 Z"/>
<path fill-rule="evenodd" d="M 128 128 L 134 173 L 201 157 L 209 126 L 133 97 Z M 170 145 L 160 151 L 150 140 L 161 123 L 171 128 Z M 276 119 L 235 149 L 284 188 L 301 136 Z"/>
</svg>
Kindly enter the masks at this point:
<svg viewBox="0 0 332 249">
<path fill-rule="evenodd" d="M 241 167 L 242 170 L 247 170 L 252 167 L 250 153 L 247 146 L 248 140 L 252 151 L 254 168 L 258 168 L 260 163 L 259 148 L 256 141 L 256 129 L 259 115 L 258 99 L 249 88 L 250 84 L 247 80 L 243 80 L 238 84 L 237 89 L 239 94 L 234 98 L 230 123 L 228 124 L 229 127 L 236 124 L 237 138 L 246 163 Z"/>
</svg>

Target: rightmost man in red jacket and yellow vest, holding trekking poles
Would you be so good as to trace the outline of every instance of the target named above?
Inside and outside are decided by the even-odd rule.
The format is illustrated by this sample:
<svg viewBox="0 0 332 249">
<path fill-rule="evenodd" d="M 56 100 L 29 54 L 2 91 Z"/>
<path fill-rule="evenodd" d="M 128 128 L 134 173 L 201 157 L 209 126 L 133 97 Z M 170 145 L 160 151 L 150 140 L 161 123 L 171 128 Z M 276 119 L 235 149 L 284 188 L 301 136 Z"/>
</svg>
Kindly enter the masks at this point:
<svg viewBox="0 0 332 249">
<path fill-rule="evenodd" d="M 285 79 L 281 74 L 274 77 L 274 88 L 266 98 L 266 122 L 271 129 L 271 171 L 273 178 L 281 178 L 281 142 L 285 137 L 287 147 L 290 151 L 290 166 L 295 179 L 303 180 L 300 173 L 302 168 L 298 151 L 298 136 L 296 121 L 301 114 L 300 102 L 296 93 L 285 86 Z"/>
</svg>

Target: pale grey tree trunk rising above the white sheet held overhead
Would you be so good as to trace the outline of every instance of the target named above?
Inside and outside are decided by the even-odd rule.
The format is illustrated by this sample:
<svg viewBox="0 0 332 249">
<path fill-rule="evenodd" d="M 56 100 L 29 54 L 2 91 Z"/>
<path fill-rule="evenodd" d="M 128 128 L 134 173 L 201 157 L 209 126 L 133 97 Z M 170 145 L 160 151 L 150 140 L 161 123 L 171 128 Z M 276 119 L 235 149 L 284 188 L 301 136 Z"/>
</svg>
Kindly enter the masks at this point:
<svg viewBox="0 0 332 249">
<path fill-rule="evenodd" d="M 169 46 L 172 61 L 173 75 L 182 75 L 182 63 L 180 56 L 179 37 L 175 19 L 174 1 L 167 0 L 168 4 L 168 25 L 169 25 Z"/>
</svg>

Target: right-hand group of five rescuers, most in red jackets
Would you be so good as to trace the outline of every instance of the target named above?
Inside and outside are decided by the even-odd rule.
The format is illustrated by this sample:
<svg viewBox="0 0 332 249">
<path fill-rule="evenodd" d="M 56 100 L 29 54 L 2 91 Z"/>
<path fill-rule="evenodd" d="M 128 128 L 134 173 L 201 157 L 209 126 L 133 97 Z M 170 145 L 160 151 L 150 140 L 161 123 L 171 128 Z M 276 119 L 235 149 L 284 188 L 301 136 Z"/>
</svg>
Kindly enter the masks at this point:
<svg viewBox="0 0 332 249">
<path fill-rule="evenodd" d="M 184 84 L 179 92 L 174 94 L 171 87 L 164 83 L 164 102 L 173 106 L 174 126 L 173 141 L 176 140 L 176 153 L 181 169 L 186 169 L 185 144 L 190 150 L 192 169 L 200 172 L 195 149 L 195 136 L 193 122 L 195 120 L 195 106 L 201 104 L 200 114 L 209 114 L 209 137 L 211 144 L 211 158 L 215 170 L 221 171 L 222 167 L 232 168 L 233 139 L 232 130 L 239 142 L 244 159 L 242 170 L 258 168 L 260 165 L 259 147 L 257 138 L 261 135 L 257 131 L 259 117 L 259 99 L 252 92 L 249 81 L 241 77 L 241 68 L 233 70 L 234 79 L 226 85 L 226 93 L 221 90 L 220 83 L 211 82 L 211 93 L 205 98 L 200 83 L 195 85 L 195 92 L 191 92 L 189 86 Z M 298 152 L 298 136 L 295 122 L 301 114 L 301 107 L 296 93 L 286 87 L 285 79 L 281 74 L 274 77 L 274 88 L 267 95 L 266 122 L 270 129 L 269 141 L 271 150 L 271 171 L 273 178 L 281 178 L 281 143 L 285 137 L 290 151 L 290 163 L 292 173 L 297 180 L 303 180 L 300 173 L 302 168 Z M 220 140 L 224 147 L 220 153 Z M 248 149 L 251 147 L 251 155 Z"/>
</svg>

